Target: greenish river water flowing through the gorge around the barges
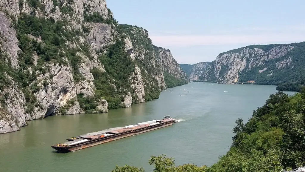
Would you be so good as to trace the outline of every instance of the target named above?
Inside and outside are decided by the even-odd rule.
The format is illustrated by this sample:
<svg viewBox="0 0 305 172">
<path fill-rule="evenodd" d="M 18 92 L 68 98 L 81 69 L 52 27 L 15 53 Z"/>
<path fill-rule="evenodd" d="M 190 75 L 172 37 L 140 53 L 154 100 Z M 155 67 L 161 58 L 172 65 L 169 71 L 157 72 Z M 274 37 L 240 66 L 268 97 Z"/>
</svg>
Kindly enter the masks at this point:
<svg viewBox="0 0 305 172">
<path fill-rule="evenodd" d="M 104 114 L 28 121 L 20 131 L 0 134 L 0 168 L 3 172 L 83 172 L 111 171 L 116 164 L 128 164 L 151 170 L 150 156 L 160 154 L 174 157 L 176 165 L 210 166 L 228 151 L 235 120 L 248 121 L 252 111 L 275 92 L 275 86 L 270 85 L 192 82 L 163 91 L 160 99 Z M 64 154 L 51 148 L 71 136 L 162 119 L 165 115 L 182 121 L 80 151 Z"/>
</svg>

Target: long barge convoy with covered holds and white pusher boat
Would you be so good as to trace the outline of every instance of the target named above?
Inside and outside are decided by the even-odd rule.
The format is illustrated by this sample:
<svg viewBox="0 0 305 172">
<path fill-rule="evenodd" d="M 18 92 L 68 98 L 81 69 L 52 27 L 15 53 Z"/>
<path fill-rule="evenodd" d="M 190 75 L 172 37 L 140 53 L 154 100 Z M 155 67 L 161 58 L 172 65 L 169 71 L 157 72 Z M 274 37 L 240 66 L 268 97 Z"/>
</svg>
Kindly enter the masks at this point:
<svg viewBox="0 0 305 172">
<path fill-rule="evenodd" d="M 163 128 L 173 125 L 177 120 L 166 115 L 162 120 L 152 120 L 141 122 L 125 127 L 115 127 L 102 131 L 92 132 L 68 138 L 68 142 L 51 146 L 58 152 L 71 152 L 88 148 L 109 141 L 118 140 L 135 134 L 145 133 L 147 131 Z"/>
</svg>

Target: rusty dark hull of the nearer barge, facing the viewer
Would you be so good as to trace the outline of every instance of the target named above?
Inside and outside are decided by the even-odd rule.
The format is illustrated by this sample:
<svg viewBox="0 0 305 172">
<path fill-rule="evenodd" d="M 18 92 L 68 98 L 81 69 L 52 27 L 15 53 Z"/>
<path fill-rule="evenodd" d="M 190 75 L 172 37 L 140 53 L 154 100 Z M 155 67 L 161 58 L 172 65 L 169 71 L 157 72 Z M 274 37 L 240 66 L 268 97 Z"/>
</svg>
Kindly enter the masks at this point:
<svg viewBox="0 0 305 172">
<path fill-rule="evenodd" d="M 92 140 L 91 142 L 88 142 L 88 143 L 75 145 L 75 146 L 67 146 L 67 147 L 52 146 L 52 148 L 56 149 L 59 152 L 63 152 L 63 153 L 77 151 L 80 149 L 89 148 L 91 146 L 107 143 L 107 142 L 110 142 L 113 140 L 118 140 L 118 139 L 122 139 L 125 137 L 133 136 L 135 134 L 140 134 L 140 133 L 145 133 L 145 132 L 152 131 L 155 129 L 160 129 L 160 128 L 167 127 L 167 126 L 170 126 L 173 124 L 174 124 L 174 122 L 167 122 L 167 123 L 164 123 L 161 125 L 156 125 L 156 126 L 151 126 L 151 127 L 144 128 L 144 129 L 134 130 L 134 131 L 127 132 L 127 133 L 118 134 L 116 136 L 110 136 L 109 138 L 105 138 L 105 140 Z"/>
</svg>

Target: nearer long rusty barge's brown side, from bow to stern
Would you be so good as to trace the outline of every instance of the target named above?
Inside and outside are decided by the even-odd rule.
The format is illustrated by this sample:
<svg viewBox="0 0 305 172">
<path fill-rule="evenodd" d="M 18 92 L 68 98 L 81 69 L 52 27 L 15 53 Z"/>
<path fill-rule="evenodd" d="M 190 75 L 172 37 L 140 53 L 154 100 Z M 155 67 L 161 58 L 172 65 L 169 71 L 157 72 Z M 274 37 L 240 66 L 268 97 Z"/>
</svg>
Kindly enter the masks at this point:
<svg viewBox="0 0 305 172">
<path fill-rule="evenodd" d="M 159 123 L 157 125 L 152 125 L 152 126 L 147 126 L 146 125 L 146 127 L 144 127 L 144 128 L 130 129 L 130 130 L 127 130 L 125 132 L 120 132 L 120 133 L 113 134 L 111 136 L 94 138 L 92 140 L 88 140 L 86 142 L 71 145 L 71 146 L 53 145 L 52 148 L 54 148 L 56 151 L 62 152 L 62 153 L 77 151 L 77 150 L 80 150 L 80 149 L 89 148 L 91 146 L 107 143 L 107 142 L 110 142 L 110 141 L 113 141 L 113 140 L 118 140 L 118 139 L 122 139 L 122 138 L 125 138 L 125 137 L 133 136 L 135 134 L 145 133 L 145 132 L 152 131 L 152 130 L 155 130 L 155 129 L 160 129 L 160 128 L 163 128 L 163 127 L 167 127 L 167 126 L 173 125 L 175 122 L 176 122 L 175 120 L 169 120 L 167 122 L 162 122 L 162 123 Z"/>
</svg>

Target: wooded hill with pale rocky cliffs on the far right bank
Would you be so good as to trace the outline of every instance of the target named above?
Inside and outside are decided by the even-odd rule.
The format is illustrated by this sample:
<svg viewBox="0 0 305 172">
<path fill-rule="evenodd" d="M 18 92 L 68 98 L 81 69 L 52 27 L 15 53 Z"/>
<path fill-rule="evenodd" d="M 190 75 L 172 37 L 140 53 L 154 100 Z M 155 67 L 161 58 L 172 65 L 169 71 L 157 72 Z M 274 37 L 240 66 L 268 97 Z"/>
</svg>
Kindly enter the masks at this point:
<svg viewBox="0 0 305 172">
<path fill-rule="evenodd" d="M 304 43 L 253 45 L 221 53 L 199 80 L 279 84 L 303 78 Z"/>
</svg>

